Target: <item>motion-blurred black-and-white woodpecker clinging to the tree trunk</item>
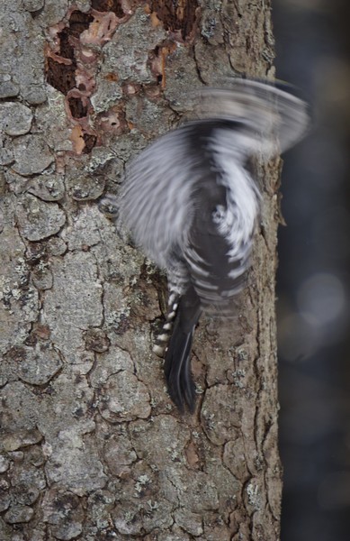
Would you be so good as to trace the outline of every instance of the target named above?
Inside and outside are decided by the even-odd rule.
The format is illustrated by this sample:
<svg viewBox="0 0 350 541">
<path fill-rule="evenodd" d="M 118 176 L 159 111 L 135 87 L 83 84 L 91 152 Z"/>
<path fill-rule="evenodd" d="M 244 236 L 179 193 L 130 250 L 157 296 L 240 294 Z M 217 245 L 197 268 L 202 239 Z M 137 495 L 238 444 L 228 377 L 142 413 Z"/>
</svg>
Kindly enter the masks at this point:
<svg viewBox="0 0 350 541">
<path fill-rule="evenodd" d="M 135 243 L 166 271 L 168 313 L 154 352 L 165 353 L 181 412 L 195 406 L 191 349 L 201 314 L 229 314 L 245 286 L 262 201 L 248 161 L 286 150 L 308 126 L 300 98 L 247 79 L 204 88 L 195 114 L 130 162 L 115 202 Z"/>
</svg>

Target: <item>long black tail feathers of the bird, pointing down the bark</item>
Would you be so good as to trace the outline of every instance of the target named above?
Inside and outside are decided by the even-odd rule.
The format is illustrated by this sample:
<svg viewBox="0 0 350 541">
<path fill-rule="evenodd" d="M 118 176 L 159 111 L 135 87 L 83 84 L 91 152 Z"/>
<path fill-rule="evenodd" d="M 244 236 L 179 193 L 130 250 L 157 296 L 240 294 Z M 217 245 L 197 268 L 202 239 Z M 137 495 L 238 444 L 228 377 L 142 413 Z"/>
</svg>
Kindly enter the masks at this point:
<svg viewBox="0 0 350 541">
<path fill-rule="evenodd" d="M 191 373 L 193 332 L 201 313 L 199 298 L 191 289 L 179 301 L 174 327 L 166 350 L 164 371 L 169 395 L 181 412 L 193 413 L 195 385 Z"/>
</svg>

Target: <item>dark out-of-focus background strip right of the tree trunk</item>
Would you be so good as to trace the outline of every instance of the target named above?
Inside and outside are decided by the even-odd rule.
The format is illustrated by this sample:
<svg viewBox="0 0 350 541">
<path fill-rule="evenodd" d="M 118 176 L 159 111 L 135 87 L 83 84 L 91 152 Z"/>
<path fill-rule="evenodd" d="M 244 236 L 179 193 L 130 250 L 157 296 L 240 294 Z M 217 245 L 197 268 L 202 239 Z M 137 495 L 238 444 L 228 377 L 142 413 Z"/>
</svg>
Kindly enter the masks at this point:
<svg viewBox="0 0 350 541">
<path fill-rule="evenodd" d="M 350 540 L 350 3 L 273 0 L 277 78 L 313 126 L 284 157 L 282 541 Z"/>
</svg>

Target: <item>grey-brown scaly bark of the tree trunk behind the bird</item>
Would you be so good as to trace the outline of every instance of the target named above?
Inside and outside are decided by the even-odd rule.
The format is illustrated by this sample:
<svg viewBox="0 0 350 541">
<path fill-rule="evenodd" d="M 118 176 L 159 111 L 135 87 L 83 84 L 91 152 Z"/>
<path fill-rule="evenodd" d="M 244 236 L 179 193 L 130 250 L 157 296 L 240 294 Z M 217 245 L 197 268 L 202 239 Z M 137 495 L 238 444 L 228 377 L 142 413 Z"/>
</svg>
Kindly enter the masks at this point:
<svg viewBox="0 0 350 541">
<path fill-rule="evenodd" d="M 274 74 L 269 9 L 3 3 L 2 540 L 278 539 L 278 161 L 257 168 L 264 211 L 238 316 L 195 335 L 193 417 L 151 353 L 165 278 L 96 204 L 190 112 L 193 88 Z"/>
</svg>

